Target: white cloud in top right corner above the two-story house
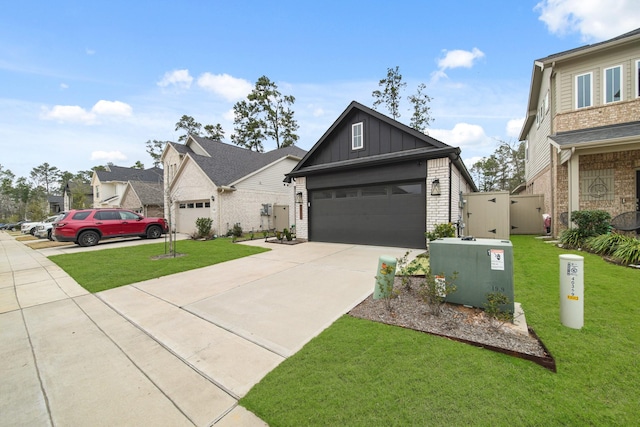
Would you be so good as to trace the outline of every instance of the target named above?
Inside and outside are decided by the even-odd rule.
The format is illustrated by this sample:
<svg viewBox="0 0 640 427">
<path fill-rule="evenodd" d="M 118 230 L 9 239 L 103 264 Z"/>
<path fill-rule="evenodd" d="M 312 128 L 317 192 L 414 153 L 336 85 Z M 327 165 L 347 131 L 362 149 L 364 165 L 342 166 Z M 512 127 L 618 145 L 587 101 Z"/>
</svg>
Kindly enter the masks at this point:
<svg viewBox="0 0 640 427">
<path fill-rule="evenodd" d="M 578 32 L 584 41 L 605 40 L 640 27 L 638 0 L 543 0 L 534 10 L 551 33 Z"/>
</svg>

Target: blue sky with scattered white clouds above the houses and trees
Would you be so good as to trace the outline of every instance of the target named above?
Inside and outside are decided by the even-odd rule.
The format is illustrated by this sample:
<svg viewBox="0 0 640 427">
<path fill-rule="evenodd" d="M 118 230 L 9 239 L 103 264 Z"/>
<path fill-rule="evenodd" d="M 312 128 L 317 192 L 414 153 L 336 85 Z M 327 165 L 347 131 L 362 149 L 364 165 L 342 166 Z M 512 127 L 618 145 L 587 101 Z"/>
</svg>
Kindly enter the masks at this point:
<svg viewBox="0 0 640 427">
<path fill-rule="evenodd" d="M 515 142 L 535 59 L 640 27 L 637 0 L 2 1 L 0 165 L 152 165 L 183 114 L 221 123 L 266 75 L 309 149 L 387 68 L 427 85 L 429 134 L 470 168 Z M 386 111 L 381 112 L 387 114 Z M 265 149 L 273 149 L 265 144 Z"/>
</svg>

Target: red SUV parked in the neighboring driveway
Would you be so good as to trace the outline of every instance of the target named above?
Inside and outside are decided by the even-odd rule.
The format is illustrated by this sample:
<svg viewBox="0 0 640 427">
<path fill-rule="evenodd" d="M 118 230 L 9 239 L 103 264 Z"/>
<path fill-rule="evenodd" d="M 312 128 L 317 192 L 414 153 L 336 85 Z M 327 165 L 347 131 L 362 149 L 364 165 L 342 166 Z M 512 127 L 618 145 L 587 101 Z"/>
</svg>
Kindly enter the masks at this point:
<svg viewBox="0 0 640 427">
<path fill-rule="evenodd" d="M 125 209 L 72 210 L 53 224 L 55 240 L 80 246 L 94 246 L 113 237 L 157 239 L 167 231 L 164 218 L 145 218 Z"/>
</svg>

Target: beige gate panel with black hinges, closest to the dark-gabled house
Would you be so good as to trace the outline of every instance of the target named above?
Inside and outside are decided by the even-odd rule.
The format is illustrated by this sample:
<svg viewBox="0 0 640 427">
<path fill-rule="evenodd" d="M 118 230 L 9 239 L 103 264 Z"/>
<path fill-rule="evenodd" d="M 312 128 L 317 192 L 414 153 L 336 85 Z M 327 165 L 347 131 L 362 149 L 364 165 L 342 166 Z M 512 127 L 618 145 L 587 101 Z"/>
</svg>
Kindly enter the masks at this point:
<svg viewBox="0 0 640 427">
<path fill-rule="evenodd" d="M 509 239 L 509 193 L 467 193 L 463 195 L 465 236 Z"/>
</svg>

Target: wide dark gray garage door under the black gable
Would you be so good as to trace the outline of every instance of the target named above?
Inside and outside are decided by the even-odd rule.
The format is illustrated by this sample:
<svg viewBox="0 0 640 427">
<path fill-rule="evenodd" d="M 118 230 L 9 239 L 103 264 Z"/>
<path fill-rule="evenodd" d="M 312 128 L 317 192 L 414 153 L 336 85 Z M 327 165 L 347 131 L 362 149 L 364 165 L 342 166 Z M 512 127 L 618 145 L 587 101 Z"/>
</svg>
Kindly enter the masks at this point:
<svg viewBox="0 0 640 427">
<path fill-rule="evenodd" d="M 424 181 L 318 189 L 310 201 L 312 241 L 425 247 Z"/>
</svg>

